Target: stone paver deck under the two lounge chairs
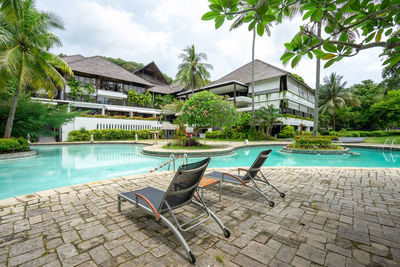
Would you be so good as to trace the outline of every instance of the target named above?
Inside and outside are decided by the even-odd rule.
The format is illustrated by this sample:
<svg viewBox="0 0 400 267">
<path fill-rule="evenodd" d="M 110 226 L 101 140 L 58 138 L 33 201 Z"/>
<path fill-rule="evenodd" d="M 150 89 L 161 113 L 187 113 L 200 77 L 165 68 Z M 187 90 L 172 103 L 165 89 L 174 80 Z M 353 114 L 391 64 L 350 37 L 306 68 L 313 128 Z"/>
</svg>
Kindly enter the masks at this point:
<svg viewBox="0 0 400 267">
<path fill-rule="evenodd" d="M 229 169 L 225 169 L 229 170 Z M 209 221 L 184 234 L 197 266 L 399 266 L 400 169 L 265 168 L 286 192 L 205 191 L 231 231 Z M 165 189 L 171 174 L 119 177 L 0 201 L 0 266 L 190 266 L 173 234 L 118 192 Z M 193 216 L 185 207 L 181 216 Z"/>
</svg>

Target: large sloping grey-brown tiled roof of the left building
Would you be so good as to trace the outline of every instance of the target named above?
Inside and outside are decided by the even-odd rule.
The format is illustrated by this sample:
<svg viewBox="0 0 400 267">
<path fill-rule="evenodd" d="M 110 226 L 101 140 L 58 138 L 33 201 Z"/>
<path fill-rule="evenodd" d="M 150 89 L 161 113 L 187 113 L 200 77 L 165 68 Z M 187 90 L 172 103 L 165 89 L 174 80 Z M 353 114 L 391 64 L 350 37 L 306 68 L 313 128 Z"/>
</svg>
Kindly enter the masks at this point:
<svg viewBox="0 0 400 267">
<path fill-rule="evenodd" d="M 108 61 L 101 56 L 83 57 L 81 55 L 67 56 L 63 58 L 72 71 L 103 76 L 111 79 L 128 81 L 146 86 L 151 83 L 127 71 L 126 69 Z"/>
</svg>

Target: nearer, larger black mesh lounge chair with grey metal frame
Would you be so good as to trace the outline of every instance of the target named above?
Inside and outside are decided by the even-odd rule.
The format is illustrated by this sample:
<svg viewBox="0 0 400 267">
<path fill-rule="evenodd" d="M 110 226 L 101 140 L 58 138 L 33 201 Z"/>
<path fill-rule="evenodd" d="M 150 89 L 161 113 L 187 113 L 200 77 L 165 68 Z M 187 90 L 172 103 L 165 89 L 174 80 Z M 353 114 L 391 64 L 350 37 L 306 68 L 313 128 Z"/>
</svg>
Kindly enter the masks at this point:
<svg viewBox="0 0 400 267">
<path fill-rule="evenodd" d="M 121 212 L 121 202 L 128 201 L 134 204 L 136 208 L 141 208 L 144 211 L 154 215 L 158 221 L 163 222 L 169 227 L 169 229 L 171 229 L 171 231 L 178 238 L 179 242 L 185 248 L 189 257 L 189 261 L 191 263 L 195 263 L 195 256 L 190 251 L 188 244 L 177 228 L 179 228 L 181 231 L 188 231 L 212 217 L 222 229 L 225 237 L 229 238 L 230 236 L 229 230 L 226 229 L 217 216 L 207 208 L 203 197 L 197 193 L 198 184 L 201 177 L 203 177 L 210 160 L 210 158 L 207 158 L 196 163 L 180 166 L 175 173 L 175 176 L 172 179 L 167 191 L 162 191 L 154 187 L 146 187 L 127 193 L 118 194 L 118 211 Z M 179 223 L 174 210 L 190 203 L 196 204 L 204 212 L 196 218 Z M 171 214 L 177 227 L 175 227 L 171 221 L 162 215 L 166 212 Z"/>
</svg>

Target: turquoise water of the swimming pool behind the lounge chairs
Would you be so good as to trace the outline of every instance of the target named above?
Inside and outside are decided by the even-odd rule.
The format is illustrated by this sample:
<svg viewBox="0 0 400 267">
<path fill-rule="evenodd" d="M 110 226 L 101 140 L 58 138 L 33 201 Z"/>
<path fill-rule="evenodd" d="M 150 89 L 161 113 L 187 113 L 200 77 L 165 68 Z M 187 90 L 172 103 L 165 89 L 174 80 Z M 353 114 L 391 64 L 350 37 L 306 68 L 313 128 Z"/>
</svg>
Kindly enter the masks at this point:
<svg viewBox="0 0 400 267">
<path fill-rule="evenodd" d="M 74 145 L 33 147 L 36 157 L 0 161 L 0 199 L 111 177 L 148 173 L 167 161 L 142 154 L 140 145 Z M 271 148 L 265 166 L 341 166 L 400 168 L 400 152 L 352 149 L 360 155 L 284 154 L 281 147 L 253 147 L 213 157 L 210 167 L 250 166 L 260 151 Z M 189 159 L 189 162 L 199 160 Z M 178 164 L 182 164 L 178 160 Z M 161 170 L 166 170 L 164 167 Z"/>
</svg>

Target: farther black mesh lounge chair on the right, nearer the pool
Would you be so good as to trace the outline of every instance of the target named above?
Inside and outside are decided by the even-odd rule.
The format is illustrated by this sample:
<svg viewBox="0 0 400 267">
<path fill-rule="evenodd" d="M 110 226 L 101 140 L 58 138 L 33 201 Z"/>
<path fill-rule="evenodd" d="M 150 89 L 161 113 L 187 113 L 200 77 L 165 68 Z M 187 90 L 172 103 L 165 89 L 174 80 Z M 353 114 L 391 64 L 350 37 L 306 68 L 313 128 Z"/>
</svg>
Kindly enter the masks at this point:
<svg viewBox="0 0 400 267">
<path fill-rule="evenodd" d="M 273 189 L 275 189 L 279 193 L 281 198 L 285 197 L 285 194 L 282 193 L 281 191 L 279 191 L 278 188 L 273 186 L 267 180 L 267 178 L 265 178 L 264 174 L 261 172 L 261 167 L 264 164 L 264 162 L 267 160 L 271 151 L 272 151 L 271 149 L 262 151 L 258 155 L 257 159 L 254 161 L 253 165 L 249 169 L 238 168 L 238 175 L 234 175 L 234 174 L 227 173 L 227 172 L 215 172 L 214 171 L 214 172 L 205 174 L 204 177 L 219 179 L 222 182 L 241 184 L 243 186 L 250 187 L 254 191 L 260 193 L 268 201 L 268 204 L 271 207 L 273 207 L 273 206 L 275 206 L 275 203 L 272 200 L 270 200 L 265 193 L 263 193 L 261 191 L 260 187 L 256 183 L 256 182 L 262 182 L 267 185 L 270 185 Z M 241 176 L 240 171 L 245 171 L 246 174 L 244 176 Z M 249 185 L 250 182 L 253 184 L 253 186 Z"/>
</svg>

